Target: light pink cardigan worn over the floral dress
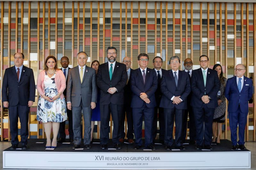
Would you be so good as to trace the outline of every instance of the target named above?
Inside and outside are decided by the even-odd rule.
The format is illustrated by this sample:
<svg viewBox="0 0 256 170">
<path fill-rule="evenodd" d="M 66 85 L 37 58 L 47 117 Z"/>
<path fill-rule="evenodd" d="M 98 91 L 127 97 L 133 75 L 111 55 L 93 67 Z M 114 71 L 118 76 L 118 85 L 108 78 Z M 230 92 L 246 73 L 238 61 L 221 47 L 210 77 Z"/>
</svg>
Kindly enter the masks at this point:
<svg viewBox="0 0 256 170">
<path fill-rule="evenodd" d="M 45 70 L 41 71 L 37 77 L 36 89 L 40 93 L 40 95 L 44 95 L 44 75 Z M 63 92 L 66 88 L 66 78 L 62 72 L 62 70 L 57 70 L 55 75 L 55 84 L 58 92 Z M 60 95 L 60 99 L 63 99 L 63 93 Z"/>
</svg>

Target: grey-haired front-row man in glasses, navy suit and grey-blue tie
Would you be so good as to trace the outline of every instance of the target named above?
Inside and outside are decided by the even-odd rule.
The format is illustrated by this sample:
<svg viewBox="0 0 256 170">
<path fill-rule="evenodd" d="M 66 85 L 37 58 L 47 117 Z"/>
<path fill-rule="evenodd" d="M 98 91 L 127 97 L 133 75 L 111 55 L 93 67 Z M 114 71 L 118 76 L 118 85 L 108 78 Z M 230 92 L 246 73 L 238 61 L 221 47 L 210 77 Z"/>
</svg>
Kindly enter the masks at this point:
<svg viewBox="0 0 256 170">
<path fill-rule="evenodd" d="M 171 150 L 173 145 L 173 123 L 175 117 L 175 148 L 185 150 L 181 142 L 181 130 L 185 109 L 187 109 L 187 97 L 190 93 L 189 75 L 180 71 L 180 58 L 172 56 L 169 64 L 171 70 L 163 74 L 161 91 L 163 93 L 160 107 L 164 108 L 165 120 L 165 149 Z"/>
</svg>

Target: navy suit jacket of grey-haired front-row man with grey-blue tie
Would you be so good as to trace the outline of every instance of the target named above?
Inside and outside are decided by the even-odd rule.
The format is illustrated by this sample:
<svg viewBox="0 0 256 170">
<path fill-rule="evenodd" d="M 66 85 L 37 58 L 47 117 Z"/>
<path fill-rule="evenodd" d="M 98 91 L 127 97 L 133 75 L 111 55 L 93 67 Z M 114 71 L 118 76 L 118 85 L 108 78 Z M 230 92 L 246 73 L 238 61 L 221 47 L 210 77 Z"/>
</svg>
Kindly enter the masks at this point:
<svg viewBox="0 0 256 170">
<path fill-rule="evenodd" d="M 160 107 L 187 109 L 187 97 L 190 93 L 190 81 L 188 73 L 179 70 L 178 86 L 176 87 L 172 70 L 168 70 L 163 74 L 161 82 L 161 91 L 163 93 Z M 173 104 L 171 98 L 180 96 L 182 102 L 178 105 Z"/>
</svg>

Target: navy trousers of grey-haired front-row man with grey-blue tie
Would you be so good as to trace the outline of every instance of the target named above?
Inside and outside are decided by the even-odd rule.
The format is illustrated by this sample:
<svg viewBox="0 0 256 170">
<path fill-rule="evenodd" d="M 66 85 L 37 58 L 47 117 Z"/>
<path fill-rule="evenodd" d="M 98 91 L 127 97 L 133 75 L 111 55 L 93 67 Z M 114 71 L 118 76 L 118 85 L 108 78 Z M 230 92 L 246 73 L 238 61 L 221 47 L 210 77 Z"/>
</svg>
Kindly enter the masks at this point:
<svg viewBox="0 0 256 170">
<path fill-rule="evenodd" d="M 181 146 L 181 130 L 182 119 L 184 115 L 184 109 L 167 109 L 164 108 L 164 120 L 165 120 L 165 139 L 164 142 L 168 146 L 173 144 L 173 123 L 175 120 L 175 146 Z"/>
</svg>

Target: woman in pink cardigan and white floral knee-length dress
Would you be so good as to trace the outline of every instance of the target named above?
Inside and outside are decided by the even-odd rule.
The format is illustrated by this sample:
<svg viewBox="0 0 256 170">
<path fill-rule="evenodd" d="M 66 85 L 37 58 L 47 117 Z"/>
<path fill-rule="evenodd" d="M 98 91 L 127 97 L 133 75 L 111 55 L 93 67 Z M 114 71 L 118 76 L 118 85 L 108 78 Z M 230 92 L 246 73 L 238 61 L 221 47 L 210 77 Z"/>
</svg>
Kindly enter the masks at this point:
<svg viewBox="0 0 256 170">
<path fill-rule="evenodd" d="M 65 88 L 66 78 L 58 69 L 56 58 L 50 55 L 45 59 L 44 70 L 39 73 L 36 85 L 40 93 L 36 119 L 43 122 L 47 139 L 46 148 L 56 148 L 60 122 L 67 120 L 66 101 L 62 94 Z"/>
</svg>

